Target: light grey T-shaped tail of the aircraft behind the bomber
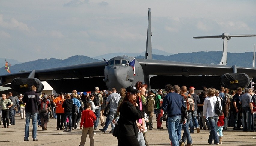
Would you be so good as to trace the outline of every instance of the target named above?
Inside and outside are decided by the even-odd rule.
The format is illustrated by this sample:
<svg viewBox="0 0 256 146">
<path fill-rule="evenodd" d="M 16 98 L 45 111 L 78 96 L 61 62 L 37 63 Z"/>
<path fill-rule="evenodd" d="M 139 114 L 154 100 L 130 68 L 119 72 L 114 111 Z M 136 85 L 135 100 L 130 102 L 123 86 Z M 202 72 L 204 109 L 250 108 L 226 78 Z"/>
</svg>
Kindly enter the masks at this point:
<svg viewBox="0 0 256 146">
<path fill-rule="evenodd" d="M 223 39 L 223 50 L 222 50 L 222 58 L 219 65 L 227 65 L 227 41 L 231 39 L 231 37 L 249 37 L 256 35 L 230 35 L 228 33 L 222 33 L 222 35 L 217 36 L 197 36 L 193 37 L 194 39 L 203 39 L 203 38 L 222 38 Z"/>
</svg>

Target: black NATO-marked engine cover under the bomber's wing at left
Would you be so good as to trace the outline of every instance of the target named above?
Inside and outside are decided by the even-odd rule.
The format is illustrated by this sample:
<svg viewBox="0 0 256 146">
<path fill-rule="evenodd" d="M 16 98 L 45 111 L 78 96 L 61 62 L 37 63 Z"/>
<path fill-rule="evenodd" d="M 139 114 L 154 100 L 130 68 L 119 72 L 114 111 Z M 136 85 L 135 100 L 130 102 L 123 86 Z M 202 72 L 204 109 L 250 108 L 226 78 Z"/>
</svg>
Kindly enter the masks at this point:
<svg viewBox="0 0 256 146">
<path fill-rule="evenodd" d="M 37 78 L 15 78 L 11 81 L 13 90 L 19 93 L 29 91 L 32 85 L 36 87 L 36 93 L 40 93 L 44 89 L 43 83 Z"/>
</svg>

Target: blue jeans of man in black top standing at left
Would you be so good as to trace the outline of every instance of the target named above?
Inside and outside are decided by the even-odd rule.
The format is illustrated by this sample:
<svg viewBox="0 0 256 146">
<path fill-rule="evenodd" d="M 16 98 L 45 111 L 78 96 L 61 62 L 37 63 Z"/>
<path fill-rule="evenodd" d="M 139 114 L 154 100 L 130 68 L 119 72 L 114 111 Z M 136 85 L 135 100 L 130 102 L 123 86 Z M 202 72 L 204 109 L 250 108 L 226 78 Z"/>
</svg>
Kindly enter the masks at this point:
<svg viewBox="0 0 256 146">
<path fill-rule="evenodd" d="M 37 126 L 36 126 L 37 113 L 29 113 L 29 112 L 25 112 L 25 113 L 26 113 L 26 124 L 25 124 L 24 139 L 29 138 L 29 122 L 30 122 L 31 117 L 32 117 L 32 125 L 33 125 L 32 137 L 33 137 L 33 139 L 35 139 L 36 138 L 36 130 L 37 130 Z"/>
</svg>

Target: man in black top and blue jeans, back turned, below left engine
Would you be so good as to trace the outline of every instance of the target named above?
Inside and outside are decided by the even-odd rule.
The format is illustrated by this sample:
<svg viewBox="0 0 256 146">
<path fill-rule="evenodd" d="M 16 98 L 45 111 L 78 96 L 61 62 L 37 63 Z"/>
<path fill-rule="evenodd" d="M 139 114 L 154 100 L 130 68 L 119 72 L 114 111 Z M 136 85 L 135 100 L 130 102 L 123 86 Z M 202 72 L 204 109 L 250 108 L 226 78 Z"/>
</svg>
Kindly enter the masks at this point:
<svg viewBox="0 0 256 146">
<path fill-rule="evenodd" d="M 36 138 L 36 130 L 37 130 L 37 113 L 38 113 L 38 105 L 41 104 L 39 100 L 38 93 L 35 92 L 36 87 L 33 85 L 30 87 L 30 91 L 24 93 L 24 97 L 22 101 L 26 103 L 25 113 L 26 113 L 26 124 L 25 124 L 25 137 L 24 141 L 29 141 L 29 122 L 32 117 L 33 124 L 33 141 L 37 141 Z"/>
</svg>

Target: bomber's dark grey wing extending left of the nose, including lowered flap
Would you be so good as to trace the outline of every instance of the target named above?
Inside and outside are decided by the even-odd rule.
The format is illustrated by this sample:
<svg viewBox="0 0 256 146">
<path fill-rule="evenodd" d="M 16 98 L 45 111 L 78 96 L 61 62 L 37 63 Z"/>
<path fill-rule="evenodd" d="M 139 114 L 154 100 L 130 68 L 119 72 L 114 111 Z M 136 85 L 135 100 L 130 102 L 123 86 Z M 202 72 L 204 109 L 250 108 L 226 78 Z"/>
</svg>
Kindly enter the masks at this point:
<svg viewBox="0 0 256 146">
<path fill-rule="evenodd" d="M 107 89 L 104 79 L 105 61 L 92 62 L 66 67 L 57 67 L 43 70 L 35 70 L 35 78 L 46 81 L 59 93 L 71 93 L 72 90 L 93 91 L 94 87 L 100 90 Z M 31 71 L 12 73 L 0 76 L 4 84 L 11 83 L 14 78 L 27 78 Z M 8 85 L 7 85 L 8 86 Z"/>
</svg>

